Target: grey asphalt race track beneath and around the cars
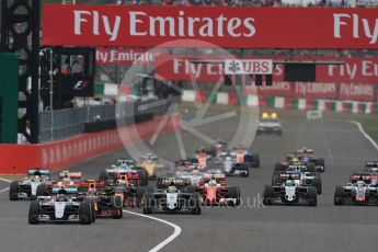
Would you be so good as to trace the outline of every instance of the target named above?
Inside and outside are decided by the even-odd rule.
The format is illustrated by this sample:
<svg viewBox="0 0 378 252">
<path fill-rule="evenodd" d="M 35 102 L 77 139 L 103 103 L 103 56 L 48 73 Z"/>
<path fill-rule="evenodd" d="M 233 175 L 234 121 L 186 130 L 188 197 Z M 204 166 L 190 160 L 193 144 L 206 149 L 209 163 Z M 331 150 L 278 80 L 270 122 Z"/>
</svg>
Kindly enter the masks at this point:
<svg viewBox="0 0 378 252">
<path fill-rule="evenodd" d="M 221 125 L 198 127 L 219 137 L 232 134 L 236 118 Z M 185 146 L 194 150 L 198 140 L 182 134 Z M 160 136 L 156 148 L 165 158 L 175 156 L 175 135 Z M 265 184 L 271 183 L 274 163 L 299 147 L 312 148 L 325 158 L 322 175 L 323 194 L 317 207 L 267 206 L 259 204 Z M 191 151 L 190 150 L 190 151 Z M 203 209 L 201 216 L 153 215 L 181 227 L 181 234 L 162 251 L 373 251 L 377 248 L 378 218 L 376 207 L 334 206 L 336 184 L 376 160 L 377 152 L 358 131 L 356 125 L 335 121 L 284 119 L 284 135 L 259 136 L 252 150 L 260 153 L 262 168 L 252 170 L 248 179 L 231 177 L 243 197 L 241 207 Z M 71 170 L 96 177 L 99 171 L 125 150 L 105 153 Z M 7 187 L 0 182 L 0 190 Z M 253 205 L 253 199 L 257 203 Z M 249 201 L 249 203 L 248 203 Z M 27 224 L 28 202 L 10 202 L 8 192 L 0 193 L 0 251 L 148 251 L 167 239 L 173 228 L 156 220 L 125 214 L 122 220 L 98 219 L 94 225 Z M 140 209 L 128 209 L 141 213 Z M 362 249 L 363 248 L 363 249 Z"/>
</svg>

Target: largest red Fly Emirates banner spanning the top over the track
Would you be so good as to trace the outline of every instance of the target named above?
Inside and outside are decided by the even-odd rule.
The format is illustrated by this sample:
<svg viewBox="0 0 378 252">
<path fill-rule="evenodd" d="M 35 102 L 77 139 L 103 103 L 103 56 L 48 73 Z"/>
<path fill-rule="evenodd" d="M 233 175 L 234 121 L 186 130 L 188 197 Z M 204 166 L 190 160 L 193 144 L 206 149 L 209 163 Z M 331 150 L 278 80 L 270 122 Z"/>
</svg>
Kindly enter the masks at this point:
<svg viewBox="0 0 378 252">
<path fill-rule="evenodd" d="M 44 4 L 42 25 L 44 45 L 377 49 L 377 19 L 375 8 Z"/>
</svg>

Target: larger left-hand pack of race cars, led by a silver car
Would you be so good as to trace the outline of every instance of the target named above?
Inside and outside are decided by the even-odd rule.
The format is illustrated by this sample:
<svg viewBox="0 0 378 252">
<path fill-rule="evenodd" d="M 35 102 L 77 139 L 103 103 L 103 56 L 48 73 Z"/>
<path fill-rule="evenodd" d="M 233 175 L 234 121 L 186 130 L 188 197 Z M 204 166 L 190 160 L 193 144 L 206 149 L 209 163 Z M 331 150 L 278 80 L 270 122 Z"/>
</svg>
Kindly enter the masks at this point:
<svg viewBox="0 0 378 252">
<path fill-rule="evenodd" d="M 54 181 L 48 170 L 32 169 L 23 181 L 11 183 L 9 198 L 31 199 L 28 222 L 33 225 L 119 219 L 124 207 L 140 207 L 144 214 L 199 215 L 202 206 L 240 205 L 240 188 L 228 185 L 226 177 L 248 177 L 252 167 L 260 167 L 259 154 L 241 147 L 226 150 L 219 141 L 199 147 L 191 159 L 177 160 L 171 170 L 151 153 L 140 161 L 118 159 L 95 180 L 64 170 Z"/>
</svg>

